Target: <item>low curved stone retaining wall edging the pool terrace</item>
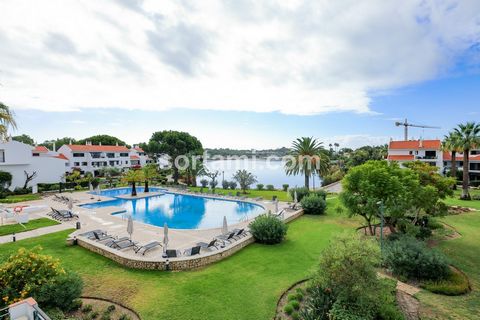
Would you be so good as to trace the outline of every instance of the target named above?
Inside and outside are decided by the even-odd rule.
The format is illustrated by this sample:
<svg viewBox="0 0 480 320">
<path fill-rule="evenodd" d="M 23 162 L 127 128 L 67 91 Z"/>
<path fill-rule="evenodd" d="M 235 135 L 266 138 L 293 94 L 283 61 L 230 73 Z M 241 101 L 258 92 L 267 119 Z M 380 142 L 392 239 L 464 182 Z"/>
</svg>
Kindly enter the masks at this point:
<svg viewBox="0 0 480 320">
<path fill-rule="evenodd" d="M 303 210 L 298 210 L 291 216 L 287 217 L 284 222 L 288 223 L 294 219 L 297 219 L 301 215 L 303 215 Z M 255 242 L 255 239 L 252 235 L 247 235 L 246 237 L 240 238 L 239 240 L 235 241 L 229 246 L 226 246 L 225 248 L 221 248 L 205 254 L 200 254 L 198 256 L 178 257 L 170 259 L 149 259 L 148 257 L 133 256 L 132 254 L 126 254 L 125 252 L 118 251 L 101 244 L 99 245 L 96 241 L 87 239 L 85 237 L 78 237 L 75 239 L 69 238 L 67 239 L 67 243 L 74 244 L 75 240 L 79 246 L 97 254 L 100 254 L 127 268 L 165 271 L 198 269 L 214 262 L 220 261 L 226 257 L 229 257 L 235 254 L 237 251 L 248 246 L 249 244 Z"/>
</svg>

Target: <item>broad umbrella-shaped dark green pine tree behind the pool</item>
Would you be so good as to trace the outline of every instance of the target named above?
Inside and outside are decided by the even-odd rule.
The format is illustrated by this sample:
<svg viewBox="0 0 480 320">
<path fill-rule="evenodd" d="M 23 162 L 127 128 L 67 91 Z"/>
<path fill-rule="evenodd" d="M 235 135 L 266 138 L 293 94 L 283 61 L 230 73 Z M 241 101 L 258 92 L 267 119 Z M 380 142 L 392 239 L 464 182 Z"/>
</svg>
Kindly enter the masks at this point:
<svg viewBox="0 0 480 320">
<path fill-rule="evenodd" d="M 179 157 L 201 155 L 202 143 L 187 132 L 159 131 L 155 132 L 148 142 L 148 151 L 156 155 L 167 154 L 170 157 L 173 169 L 173 181 L 178 183 Z"/>
</svg>

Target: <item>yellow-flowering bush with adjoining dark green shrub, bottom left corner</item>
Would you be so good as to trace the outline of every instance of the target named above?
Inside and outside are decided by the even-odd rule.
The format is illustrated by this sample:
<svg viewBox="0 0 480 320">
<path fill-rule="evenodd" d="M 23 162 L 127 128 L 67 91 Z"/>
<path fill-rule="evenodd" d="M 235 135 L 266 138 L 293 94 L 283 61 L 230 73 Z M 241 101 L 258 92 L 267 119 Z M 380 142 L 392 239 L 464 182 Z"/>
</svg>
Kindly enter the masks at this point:
<svg viewBox="0 0 480 320">
<path fill-rule="evenodd" d="M 30 296 L 45 308 L 69 311 L 77 306 L 74 300 L 83 288 L 80 277 L 40 251 L 21 248 L 0 266 L 0 307 Z"/>
</svg>

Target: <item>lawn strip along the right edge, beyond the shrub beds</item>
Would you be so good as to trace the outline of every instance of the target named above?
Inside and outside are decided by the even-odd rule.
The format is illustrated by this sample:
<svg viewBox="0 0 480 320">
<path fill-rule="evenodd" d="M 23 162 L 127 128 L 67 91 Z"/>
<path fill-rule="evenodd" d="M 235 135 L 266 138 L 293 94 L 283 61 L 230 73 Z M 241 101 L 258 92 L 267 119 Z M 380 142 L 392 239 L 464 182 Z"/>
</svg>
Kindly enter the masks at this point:
<svg viewBox="0 0 480 320">
<path fill-rule="evenodd" d="M 443 241 L 439 248 L 468 275 L 473 291 L 458 297 L 422 291 L 418 297 L 423 313 L 428 319 L 480 319 L 480 212 L 448 216 L 442 220 L 455 227 L 462 237 Z"/>
</svg>

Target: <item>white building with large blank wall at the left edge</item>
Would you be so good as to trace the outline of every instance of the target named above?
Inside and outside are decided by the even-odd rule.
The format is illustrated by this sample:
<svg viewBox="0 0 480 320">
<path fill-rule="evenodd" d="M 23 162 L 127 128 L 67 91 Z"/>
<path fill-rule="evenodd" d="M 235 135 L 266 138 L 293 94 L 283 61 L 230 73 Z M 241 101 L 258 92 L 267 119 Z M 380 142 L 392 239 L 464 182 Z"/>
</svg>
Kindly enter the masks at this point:
<svg viewBox="0 0 480 320">
<path fill-rule="evenodd" d="M 45 147 L 33 147 L 18 141 L 9 140 L 0 143 L 0 170 L 10 172 L 10 189 L 21 188 L 26 175 L 36 172 L 29 187 L 38 183 L 58 183 L 65 173 L 67 159 Z"/>
</svg>

